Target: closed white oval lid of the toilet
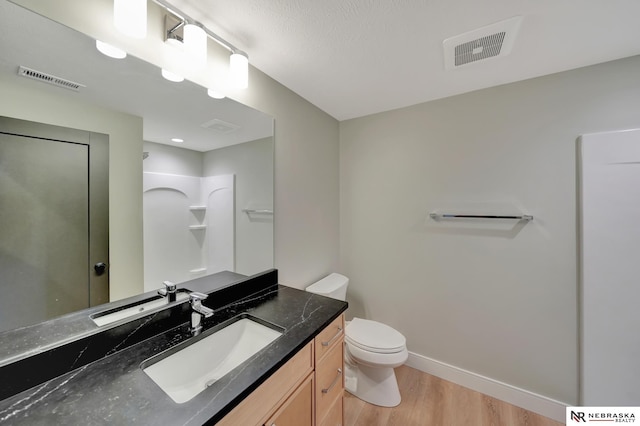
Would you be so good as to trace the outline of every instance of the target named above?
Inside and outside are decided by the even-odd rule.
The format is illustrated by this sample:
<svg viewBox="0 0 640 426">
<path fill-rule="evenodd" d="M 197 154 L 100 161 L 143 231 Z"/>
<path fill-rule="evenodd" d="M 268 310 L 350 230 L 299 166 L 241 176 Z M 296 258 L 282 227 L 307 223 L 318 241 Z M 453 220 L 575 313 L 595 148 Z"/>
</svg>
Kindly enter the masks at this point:
<svg viewBox="0 0 640 426">
<path fill-rule="evenodd" d="M 345 329 L 347 342 L 376 353 L 404 350 L 407 340 L 397 330 L 376 321 L 354 318 Z"/>
</svg>

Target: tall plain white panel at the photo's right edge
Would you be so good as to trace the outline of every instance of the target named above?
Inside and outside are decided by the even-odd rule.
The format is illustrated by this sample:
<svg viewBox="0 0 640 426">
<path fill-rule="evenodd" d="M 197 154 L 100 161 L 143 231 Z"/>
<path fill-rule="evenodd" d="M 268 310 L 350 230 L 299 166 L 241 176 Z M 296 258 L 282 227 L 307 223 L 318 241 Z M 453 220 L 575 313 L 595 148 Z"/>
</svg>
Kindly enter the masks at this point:
<svg viewBox="0 0 640 426">
<path fill-rule="evenodd" d="M 640 403 L 640 130 L 584 135 L 581 405 Z"/>
</svg>

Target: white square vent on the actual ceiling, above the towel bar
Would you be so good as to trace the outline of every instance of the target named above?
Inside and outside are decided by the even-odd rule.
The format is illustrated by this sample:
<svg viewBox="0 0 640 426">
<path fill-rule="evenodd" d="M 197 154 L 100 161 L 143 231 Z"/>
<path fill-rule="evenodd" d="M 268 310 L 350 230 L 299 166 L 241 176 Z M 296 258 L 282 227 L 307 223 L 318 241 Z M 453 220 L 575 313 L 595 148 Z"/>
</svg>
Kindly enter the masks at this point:
<svg viewBox="0 0 640 426">
<path fill-rule="evenodd" d="M 511 52 L 521 16 L 507 19 L 474 31 L 446 39 L 444 61 L 446 69 L 453 69 L 483 59 L 506 56 Z"/>
</svg>

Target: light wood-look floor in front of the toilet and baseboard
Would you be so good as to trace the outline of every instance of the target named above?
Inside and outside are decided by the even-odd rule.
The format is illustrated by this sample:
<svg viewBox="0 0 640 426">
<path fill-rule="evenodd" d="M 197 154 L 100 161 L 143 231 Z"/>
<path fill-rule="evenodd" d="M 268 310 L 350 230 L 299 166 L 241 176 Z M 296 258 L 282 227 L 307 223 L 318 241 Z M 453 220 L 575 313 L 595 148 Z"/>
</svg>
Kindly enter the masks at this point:
<svg viewBox="0 0 640 426">
<path fill-rule="evenodd" d="M 396 368 L 402 402 L 384 408 L 345 391 L 345 426 L 561 426 L 547 417 L 416 369 Z"/>
</svg>

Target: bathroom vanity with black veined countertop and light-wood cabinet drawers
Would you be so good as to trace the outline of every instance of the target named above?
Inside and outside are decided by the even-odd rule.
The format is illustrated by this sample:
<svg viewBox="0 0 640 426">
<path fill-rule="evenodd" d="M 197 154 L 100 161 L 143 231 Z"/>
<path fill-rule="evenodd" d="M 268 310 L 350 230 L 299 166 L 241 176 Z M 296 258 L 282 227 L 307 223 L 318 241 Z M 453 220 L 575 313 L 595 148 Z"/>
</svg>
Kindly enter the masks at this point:
<svg viewBox="0 0 640 426">
<path fill-rule="evenodd" d="M 203 303 L 214 311 L 195 336 L 184 300 L 108 325 L 91 319 L 153 293 L 1 333 L 0 424 L 342 423 L 345 302 L 278 285 L 275 270 L 225 272 L 179 287 L 207 294 Z M 185 402 L 143 371 L 241 319 L 281 334 Z M 167 365 L 178 381 L 201 367 Z"/>
</svg>

